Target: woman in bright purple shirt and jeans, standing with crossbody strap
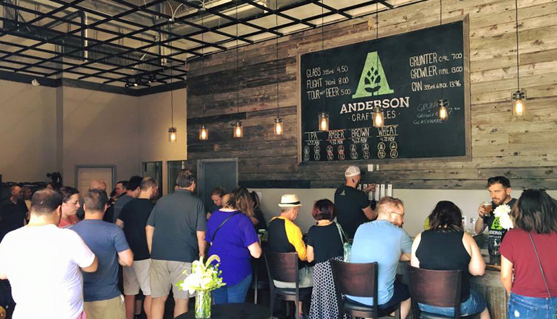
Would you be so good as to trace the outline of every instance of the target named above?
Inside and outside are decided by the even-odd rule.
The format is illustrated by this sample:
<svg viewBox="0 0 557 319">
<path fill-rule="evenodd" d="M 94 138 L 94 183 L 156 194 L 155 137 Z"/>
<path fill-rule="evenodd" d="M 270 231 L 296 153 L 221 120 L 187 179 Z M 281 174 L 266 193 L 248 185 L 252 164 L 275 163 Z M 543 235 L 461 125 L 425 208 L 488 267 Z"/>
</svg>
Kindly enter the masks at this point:
<svg viewBox="0 0 557 319">
<path fill-rule="evenodd" d="M 251 257 L 261 256 L 261 245 L 250 217 L 253 202 L 245 187 L 234 188 L 223 208 L 207 221 L 205 240 L 210 243 L 209 256 L 218 255 L 226 286 L 212 292 L 216 304 L 243 303 L 252 281 Z"/>
</svg>

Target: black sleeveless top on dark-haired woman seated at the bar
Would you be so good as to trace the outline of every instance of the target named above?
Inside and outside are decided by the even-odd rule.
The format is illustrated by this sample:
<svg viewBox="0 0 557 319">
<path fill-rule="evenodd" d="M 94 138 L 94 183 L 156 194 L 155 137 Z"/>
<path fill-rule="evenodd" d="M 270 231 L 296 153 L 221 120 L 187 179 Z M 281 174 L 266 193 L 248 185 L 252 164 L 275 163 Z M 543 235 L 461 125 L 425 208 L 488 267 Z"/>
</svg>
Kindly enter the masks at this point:
<svg viewBox="0 0 557 319">
<path fill-rule="evenodd" d="M 470 297 L 470 254 L 464 248 L 464 232 L 426 230 L 416 250 L 419 267 L 426 270 L 462 270 L 461 303 Z"/>
</svg>

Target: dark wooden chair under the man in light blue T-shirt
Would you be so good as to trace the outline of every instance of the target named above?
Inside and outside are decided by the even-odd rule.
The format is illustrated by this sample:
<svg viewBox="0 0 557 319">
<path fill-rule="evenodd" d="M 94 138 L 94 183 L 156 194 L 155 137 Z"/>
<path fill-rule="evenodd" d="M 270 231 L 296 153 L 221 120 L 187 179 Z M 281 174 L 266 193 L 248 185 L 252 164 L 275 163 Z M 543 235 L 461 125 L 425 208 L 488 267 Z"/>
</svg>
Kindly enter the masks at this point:
<svg viewBox="0 0 557 319">
<path fill-rule="evenodd" d="M 400 319 L 400 303 L 389 309 L 379 309 L 376 302 L 373 306 L 360 305 L 341 296 L 369 297 L 377 300 L 378 263 L 345 263 L 331 260 L 331 267 L 338 300 L 339 318 L 342 318 L 343 314 L 349 314 L 352 317 L 375 319 L 394 312 L 395 318 Z"/>
</svg>

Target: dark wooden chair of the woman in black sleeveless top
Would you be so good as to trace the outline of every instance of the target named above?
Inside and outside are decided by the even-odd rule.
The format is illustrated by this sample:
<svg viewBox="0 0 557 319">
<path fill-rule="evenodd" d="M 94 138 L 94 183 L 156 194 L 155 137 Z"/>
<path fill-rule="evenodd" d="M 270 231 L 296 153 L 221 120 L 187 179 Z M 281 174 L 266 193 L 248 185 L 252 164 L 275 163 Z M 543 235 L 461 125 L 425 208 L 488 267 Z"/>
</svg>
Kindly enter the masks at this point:
<svg viewBox="0 0 557 319">
<path fill-rule="evenodd" d="M 406 272 L 412 299 L 413 318 L 468 318 L 468 316 L 460 316 L 461 270 L 424 270 L 406 265 Z M 418 303 L 455 308 L 455 316 L 448 317 L 420 311 Z"/>
</svg>

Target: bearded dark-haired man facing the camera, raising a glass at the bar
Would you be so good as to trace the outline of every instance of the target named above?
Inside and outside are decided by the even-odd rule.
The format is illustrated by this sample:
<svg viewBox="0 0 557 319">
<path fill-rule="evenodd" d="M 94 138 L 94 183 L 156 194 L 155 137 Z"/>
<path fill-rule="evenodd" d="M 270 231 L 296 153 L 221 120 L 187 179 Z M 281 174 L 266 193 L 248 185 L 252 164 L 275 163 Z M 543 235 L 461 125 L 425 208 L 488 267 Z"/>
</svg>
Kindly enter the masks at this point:
<svg viewBox="0 0 557 319">
<path fill-rule="evenodd" d="M 488 212 L 483 204 L 479 206 L 478 214 L 480 218 L 476 221 L 474 230 L 477 234 L 481 234 L 486 227 L 489 228 L 488 248 L 490 254 L 499 256 L 499 246 L 507 230 L 501 227 L 499 217 L 495 217 L 493 211 L 499 205 L 508 205 L 512 208 L 516 199 L 511 197 L 510 181 L 504 176 L 490 177 L 488 179 L 488 190 L 492 199 L 492 210 Z"/>
</svg>

